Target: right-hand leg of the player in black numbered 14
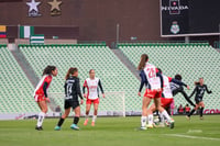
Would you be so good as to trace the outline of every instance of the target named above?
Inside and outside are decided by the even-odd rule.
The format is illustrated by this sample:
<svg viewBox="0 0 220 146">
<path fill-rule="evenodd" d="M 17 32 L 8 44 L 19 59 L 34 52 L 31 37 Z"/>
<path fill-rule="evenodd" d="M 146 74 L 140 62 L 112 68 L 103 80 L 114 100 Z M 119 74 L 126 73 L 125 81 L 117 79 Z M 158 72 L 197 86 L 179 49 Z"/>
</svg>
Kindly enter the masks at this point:
<svg viewBox="0 0 220 146">
<path fill-rule="evenodd" d="M 75 112 L 75 116 L 74 116 L 74 122 L 70 126 L 70 128 L 73 130 L 79 130 L 79 127 L 77 126 L 78 122 L 79 122 L 79 116 L 80 116 L 80 105 L 78 102 L 75 103 L 75 105 L 73 106 L 74 112 Z"/>
</svg>

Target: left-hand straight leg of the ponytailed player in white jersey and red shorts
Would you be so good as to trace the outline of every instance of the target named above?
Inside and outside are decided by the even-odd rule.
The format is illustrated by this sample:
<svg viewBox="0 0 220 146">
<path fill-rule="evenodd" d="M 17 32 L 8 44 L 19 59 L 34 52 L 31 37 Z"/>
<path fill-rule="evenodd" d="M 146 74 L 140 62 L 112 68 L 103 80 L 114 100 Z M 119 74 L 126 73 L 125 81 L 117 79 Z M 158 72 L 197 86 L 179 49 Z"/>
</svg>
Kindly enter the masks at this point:
<svg viewBox="0 0 220 146">
<path fill-rule="evenodd" d="M 151 98 L 143 97 L 143 100 L 142 100 L 141 130 L 146 130 L 147 106 L 148 106 L 150 102 L 151 102 Z"/>
</svg>

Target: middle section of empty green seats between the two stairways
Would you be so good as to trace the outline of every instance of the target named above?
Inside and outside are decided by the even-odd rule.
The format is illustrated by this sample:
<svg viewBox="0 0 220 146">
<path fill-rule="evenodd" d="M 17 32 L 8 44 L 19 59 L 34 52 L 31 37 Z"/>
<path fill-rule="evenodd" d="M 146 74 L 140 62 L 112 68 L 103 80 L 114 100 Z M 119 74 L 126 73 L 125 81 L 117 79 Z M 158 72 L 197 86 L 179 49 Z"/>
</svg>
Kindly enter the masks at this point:
<svg viewBox="0 0 220 146">
<path fill-rule="evenodd" d="M 47 65 L 55 65 L 58 68 L 58 76 L 54 78 L 50 92 L 64 92 L 64 77 L 69 67 L 79 69 L 81 86 L 89 76 L 88 71 L 95 69 L 106 92 L 124 91 L 127 111 L 140 111 L 141 99 L 136 96 L 139 80 L 108 46 L 102 44 L 20 45 L 19 48 L 38 78 Z M 100 104 L 101 109 L 105 106 Z"/>
</svg>

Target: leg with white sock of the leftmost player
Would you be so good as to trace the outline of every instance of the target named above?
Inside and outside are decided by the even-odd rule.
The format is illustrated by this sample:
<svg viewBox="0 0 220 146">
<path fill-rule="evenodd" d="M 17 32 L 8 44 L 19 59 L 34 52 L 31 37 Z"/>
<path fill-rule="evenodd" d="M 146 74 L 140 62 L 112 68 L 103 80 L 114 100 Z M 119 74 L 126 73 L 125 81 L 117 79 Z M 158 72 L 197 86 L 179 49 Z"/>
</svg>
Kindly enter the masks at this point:
<svg viewBox="0 0 220 146">
<path fill-rule="evenodd" d="M 36 127 L 35 130 L 37 131 L 42 131 L 42 125 L 43 125 L 43 121 L 44 121 L 44 117 L 45 117 L 45 114 L 47 112 L 47 104 L 46 104 L 46 101 L 45 100 L 40 100 L 37 102 L 40 109 L 41 109 L 41 112 L 38 113 L 38 119 L 37 119 L 37 124 L 36 124 Z"/>
</svg>

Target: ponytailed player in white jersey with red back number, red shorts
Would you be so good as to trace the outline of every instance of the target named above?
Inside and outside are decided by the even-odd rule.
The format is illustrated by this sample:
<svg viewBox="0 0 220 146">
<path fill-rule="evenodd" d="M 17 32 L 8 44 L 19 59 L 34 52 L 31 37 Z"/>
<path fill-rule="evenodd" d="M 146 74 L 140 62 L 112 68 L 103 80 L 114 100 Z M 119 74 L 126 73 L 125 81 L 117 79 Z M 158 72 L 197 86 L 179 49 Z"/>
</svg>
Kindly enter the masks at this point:
<svg viewBox="0 0 220 146">
<path fill-rule="evenodd" d="M 141 130 L 146 130 L 147 108 L 152 99 L 154 99 L 155 109 L 158 110 L 172 125 L 174 125 L 174 121 L 161 105 L 161 97 L 163 91 L 163 77 L 158 72 L 157 68 L 154 65 L 148 64 L 147 61 L 148 61 L 148 56 L 146 54 L 143 54 L 141 56 L 141 61 L 138 67 L 138 69 L 141 71 L 140 74 L 141 86 L 139 90 L 140 97 L 143 86 L 144 85 L 146 86 L 146 90 L 142 101 Z M 151 121 L 150 119 L 148 121 Z"/>
</svg>

